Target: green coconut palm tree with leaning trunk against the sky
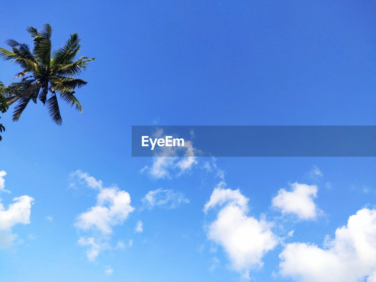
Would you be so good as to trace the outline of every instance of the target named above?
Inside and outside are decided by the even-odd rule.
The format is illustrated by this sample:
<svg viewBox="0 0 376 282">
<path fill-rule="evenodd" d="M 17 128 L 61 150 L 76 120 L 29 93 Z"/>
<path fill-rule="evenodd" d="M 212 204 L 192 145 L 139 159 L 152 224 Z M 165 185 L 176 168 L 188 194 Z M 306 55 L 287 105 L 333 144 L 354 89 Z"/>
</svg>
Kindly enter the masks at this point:
<svg viewBox="0 0 376 282">
<path fill-rule="evenodd" d="M 39 99 L 43 105 L 47 104 L 52 120 L 61 125 L 62 118 L 56 93 L 66 103 L 82 112 L 82 106 L 74 96 L 74 89 L 81 88 L 87 82 L 77 76 L 88 68 L 88 63 L 95 58 L 82 56 L 75 59 L 81 47 L 77 33 L 70 35 L 63 47 L 52 52 L 52 28 L 49 24 L 44 24 L 41 30 L 30 26 L 26 31 L 34 41 L 32 52 L 29 45 L 18 43 L 13 39 L 6 41 L 13 52 L 0 47 L 0 57 L 13 60 L 22 68 L 22 71 L 14 77 L 21 80 L 11 83 L 4 89 L 6 103 L 9 106 L 19 101 L 13 112 L 13 120 L 17 121 L 30 100 L 36 103 Z M 47 97 L 49 92 L 50 97 Z"/>
</svg>

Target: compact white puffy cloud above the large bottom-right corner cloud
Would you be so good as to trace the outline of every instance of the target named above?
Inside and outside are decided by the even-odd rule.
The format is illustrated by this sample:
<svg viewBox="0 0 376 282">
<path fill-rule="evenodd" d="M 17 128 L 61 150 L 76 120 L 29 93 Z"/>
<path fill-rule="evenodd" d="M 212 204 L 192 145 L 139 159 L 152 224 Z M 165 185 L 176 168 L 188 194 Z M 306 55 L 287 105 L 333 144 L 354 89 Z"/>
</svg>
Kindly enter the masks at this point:
<svg viewBox="0 0 376 282">
<path fill-rule="evenodd" d="M 280 189 L 272 199 L 272 206 L 282 214 L 293 214 L 299 219 L 315 219 L 321 211 L 314 203 L 317 197 L 317 186 L 301 183 L 290 184 L 291 191 Z"/>
</svg>

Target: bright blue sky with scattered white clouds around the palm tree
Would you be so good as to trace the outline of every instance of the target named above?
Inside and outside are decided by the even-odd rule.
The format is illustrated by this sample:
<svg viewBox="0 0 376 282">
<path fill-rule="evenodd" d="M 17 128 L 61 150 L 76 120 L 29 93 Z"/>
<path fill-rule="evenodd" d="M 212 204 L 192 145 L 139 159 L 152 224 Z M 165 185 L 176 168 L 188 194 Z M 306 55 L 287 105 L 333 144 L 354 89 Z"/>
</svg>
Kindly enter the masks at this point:
<svg viewBox="0 0 376 282">
<path fill-rule="evenodd" d="M 7 174 L 0 191 L 11 193 L 0 192 L 1 203 L 5 211 L 27 195 L 33 205 L 19 199 L 24 217 L 0 225 L 0 242 L 13 235 L 0 249 L 1 276 L 136 282 L 240 281 L 248 274 L 256 281 L 310 282 L 324 281 L 315 276 L 324 273 L 328 281 L 344 281 L 315 264 L 328 256 L 348 281 L 376 276 L 376 243 L 369 239 L 376 234 L 374 158 L 196 158 L 185 170 L 179 160 L 164 164 L 169 177 L 155 177 L 141 172 L 155 159 L 130 157 L 132 125 L 374 125 L 375 9 L 371 1 L 2 3 L 0 42 L 31 44 L 25 28 L 49 23 L 53 47 L 77 32 L 80 55 L 97 60 L 83 76 L 88 85 L 77 91 L 83 113 L 61 105 L 61 127 L 39 103 L 17 123 L 11 112 L 2 115 L 0 171 Z M 0 64 L 0 80 L 8 84 L 19 68 Z M 103 183 L 87 185 L 84 173 Z M 295 182 L 308 185 L 299 186 L 298 199 L 313 209 L 278 197 L 293 193 Z M 215 202 L 215 188 L 227 193 L 222 202 Z M 80 221 L 91 207 L 106 205 L 96 197 L 110 190 L 111 199 L 126 192 L 131 201 L 125 214 L 109 208 L 111 232 Z M 151 195 L 159 199 L 154 204 Z M 229 208 L 238 212 L 238 225 L 216 229 Z M 354 225 L 352 215 L 364 224 Z M 135 232 L 138 221 L 142 232 Z M 254 251 L 246 232 L 242 255 L 231 244 L 232 230 L 250 221 L 267 223 L 262 234 L 270 236 L 255 236 L 269 244 Z M 359 242 L 354 230 L 368 234 L 359 240 L 371 246 L 369 265 L 349 251 Z M 83 246 L 88 238 L 99 246 L 95 258 Z M 297 262 L 304 273 L 289 268 Z"/>
</svg>

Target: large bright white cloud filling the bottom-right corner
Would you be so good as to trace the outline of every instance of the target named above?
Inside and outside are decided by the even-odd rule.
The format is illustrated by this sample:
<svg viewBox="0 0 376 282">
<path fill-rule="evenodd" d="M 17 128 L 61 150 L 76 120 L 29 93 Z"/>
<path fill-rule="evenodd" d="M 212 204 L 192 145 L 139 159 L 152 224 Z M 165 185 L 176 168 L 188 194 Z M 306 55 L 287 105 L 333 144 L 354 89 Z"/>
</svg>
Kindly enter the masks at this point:
<svg viewBox="0 0 376 282">
<path fill-rule="evenodd" d="M 315 244 L 291 243 L 279 255 L 280 274 L 299 282 L 376 281 L 376 210 L 363 208 L 349 217 L 335 238 Z"/>
</svg>

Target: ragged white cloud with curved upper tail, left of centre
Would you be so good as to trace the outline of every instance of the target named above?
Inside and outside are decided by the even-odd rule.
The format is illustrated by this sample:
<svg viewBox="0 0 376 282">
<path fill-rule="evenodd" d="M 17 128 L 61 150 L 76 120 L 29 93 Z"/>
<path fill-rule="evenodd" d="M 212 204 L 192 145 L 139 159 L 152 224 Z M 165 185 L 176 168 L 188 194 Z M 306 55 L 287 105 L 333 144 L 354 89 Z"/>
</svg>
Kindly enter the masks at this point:
<svg viewBox="0 0 376 282">
<path fill-rule="evenodd" d="M 79 240 L 80 245 L 88 246 L 88 258 L 94 260 L 101 250 L 108 248 L 112 227 L 123 224 L 134 208 L 130 205 L 129 193 L 115 185 L 105 187 L 101 180 L 96 180 L 80 170 L 71 174 L 71 177 L 71 186 L 85 183 L 89 188 L 98 191 L 96 206 L 77 215 L 75 222 L 80 230 L 100 234 L 97 237 L 81 237 Z"/>
</svg>

